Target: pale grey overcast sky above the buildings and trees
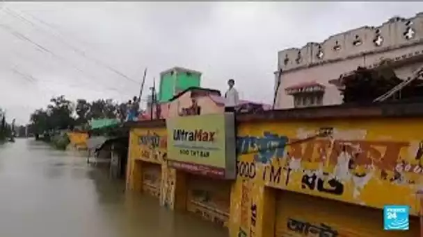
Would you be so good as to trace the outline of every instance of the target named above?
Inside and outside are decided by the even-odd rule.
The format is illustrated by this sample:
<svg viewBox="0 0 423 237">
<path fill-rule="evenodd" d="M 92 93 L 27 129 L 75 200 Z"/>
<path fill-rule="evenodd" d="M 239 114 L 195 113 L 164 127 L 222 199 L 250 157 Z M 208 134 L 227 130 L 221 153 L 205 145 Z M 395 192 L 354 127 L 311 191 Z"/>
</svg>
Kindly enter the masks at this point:
<svg viewBox="0 0 423 237">
<path fill-rule="evenodd" d="M 330 35 L 413 17 L 423 3 L 0 3 L 0 107 L 26 123 L 51 96 L 138 95 L 170 67 L 202 87 L 271 103 L 277 53 Z"/>
</svg>

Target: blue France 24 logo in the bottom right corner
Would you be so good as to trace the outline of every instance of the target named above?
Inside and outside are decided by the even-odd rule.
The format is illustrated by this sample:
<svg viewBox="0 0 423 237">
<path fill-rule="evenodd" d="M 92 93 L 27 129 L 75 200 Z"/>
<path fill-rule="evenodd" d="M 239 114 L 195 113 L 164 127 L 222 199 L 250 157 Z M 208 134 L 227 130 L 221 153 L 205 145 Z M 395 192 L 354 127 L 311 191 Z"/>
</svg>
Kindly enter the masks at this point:
<svg viewBox="0 0 423 237">
<path fill-rule="evenodd" d="M 383 207 L 383 229 L 385 230 L 408 230 L 408 206 L 385 206 Z"/>
</svg>

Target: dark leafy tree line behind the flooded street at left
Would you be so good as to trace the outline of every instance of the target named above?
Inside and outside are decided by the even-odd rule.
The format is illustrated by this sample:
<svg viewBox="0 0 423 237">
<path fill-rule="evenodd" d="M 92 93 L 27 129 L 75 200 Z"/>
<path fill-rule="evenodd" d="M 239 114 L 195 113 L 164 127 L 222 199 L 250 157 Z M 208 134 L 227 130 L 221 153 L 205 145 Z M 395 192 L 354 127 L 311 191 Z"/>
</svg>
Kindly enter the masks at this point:
<svg viewBox="0 0 423 237">
<path fill-rule="evenodd" d="M 36 109 L 30 117 L 29 132 L 34 135 L 57 130 L 86 128 L 91 119 L 119 119 L 125 121 L 129 102 L 118 103 L 112 99 L 88 101 L 67 100 L 65 96 L 50 99 L 45 108 Z"/>
</svg>

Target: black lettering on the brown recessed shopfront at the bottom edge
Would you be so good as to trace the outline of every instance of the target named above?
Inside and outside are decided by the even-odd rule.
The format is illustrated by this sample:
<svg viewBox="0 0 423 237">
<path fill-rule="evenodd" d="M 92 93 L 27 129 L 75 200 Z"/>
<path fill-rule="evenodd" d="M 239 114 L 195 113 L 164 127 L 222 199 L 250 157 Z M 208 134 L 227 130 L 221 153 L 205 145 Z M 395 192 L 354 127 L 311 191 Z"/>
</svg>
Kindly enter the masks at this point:
<svg viewBox="0 0 423 237">
<path fill-rule="evenodd" d="M 323 223 L 317 226 L 310 224 L 310 222 L 295 220 L 293 218 L 288 219 L 287 229 L 298 234 L 303 234 L 304 236 L 312 234 L 313 236 L 337 237 L 339 235 L 338 231 Z"/>
</svg>

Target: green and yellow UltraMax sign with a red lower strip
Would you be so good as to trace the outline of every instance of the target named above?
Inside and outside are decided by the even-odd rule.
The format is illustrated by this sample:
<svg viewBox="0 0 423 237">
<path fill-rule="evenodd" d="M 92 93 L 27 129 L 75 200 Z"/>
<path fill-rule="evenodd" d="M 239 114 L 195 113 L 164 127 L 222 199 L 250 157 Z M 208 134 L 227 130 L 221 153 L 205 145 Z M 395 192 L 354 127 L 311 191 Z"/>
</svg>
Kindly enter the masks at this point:
<svg viewBox="0 0 423 237">
<path fill-rule="evenodd" d="M 168 161 L 190 173 L 234 179 L 234 115 L 205 114 L 168 119 Z"/>
</svg>

